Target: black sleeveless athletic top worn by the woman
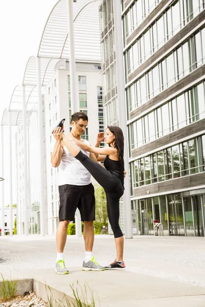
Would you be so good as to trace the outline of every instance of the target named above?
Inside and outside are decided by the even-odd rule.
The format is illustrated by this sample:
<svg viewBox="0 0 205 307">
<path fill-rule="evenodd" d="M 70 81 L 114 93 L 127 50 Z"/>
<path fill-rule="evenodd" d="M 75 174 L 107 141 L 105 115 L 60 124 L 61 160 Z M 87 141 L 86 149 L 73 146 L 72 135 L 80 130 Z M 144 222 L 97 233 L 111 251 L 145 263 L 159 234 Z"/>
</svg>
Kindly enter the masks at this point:
<svg viewBox="0 0 205 307">
<path fill-rule="evenodd" d="M 124 187 L 124 160 L 119 162 L 111 160 L 108 156 L 106 156 L 106 159 L 104 160 L 104 166 L 108 171 L 120 179 L 122 186 Z"/>
</svg>

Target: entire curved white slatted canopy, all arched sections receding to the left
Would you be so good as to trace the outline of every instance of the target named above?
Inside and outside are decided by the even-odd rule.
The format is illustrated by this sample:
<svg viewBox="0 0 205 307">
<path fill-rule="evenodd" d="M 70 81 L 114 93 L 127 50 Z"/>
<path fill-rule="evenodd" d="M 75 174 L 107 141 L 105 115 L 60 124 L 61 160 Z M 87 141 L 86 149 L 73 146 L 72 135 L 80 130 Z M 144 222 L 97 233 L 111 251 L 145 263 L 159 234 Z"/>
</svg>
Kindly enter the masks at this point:
<svg viewBox="0 0 205 307">
<path fill-rule="evenodd" d="M 99 5 L 101 0 L 77 0 L 73 3 L 75 60 L 100 63 Z M 40 40 L 37 56 L 41 58 L 41 84 L 45 86 L 53 77 L 58 61 L 69 60 L 68 0 L 59 0 L 52 9 Z M 26 92 L 27 124 L 30 113 L 37 111 L 37 64 L 31 56 L 27 62 L 23 85 Z M 11 124 L 22 123 L 22 85 L 12 93 L 9 112 Z M 8 125 L 5 109 L 2 125 Z"/>
</svg>

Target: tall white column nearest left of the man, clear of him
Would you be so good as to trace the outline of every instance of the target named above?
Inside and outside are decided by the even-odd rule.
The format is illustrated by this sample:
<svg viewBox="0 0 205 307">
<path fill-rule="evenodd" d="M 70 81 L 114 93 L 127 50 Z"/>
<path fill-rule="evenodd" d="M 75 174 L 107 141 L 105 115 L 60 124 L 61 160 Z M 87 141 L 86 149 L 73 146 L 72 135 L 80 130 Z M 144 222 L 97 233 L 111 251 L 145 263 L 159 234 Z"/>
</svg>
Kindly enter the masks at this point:
<svg viewBox="0 0 205 307">
<path fill-rule="evenodd" d="M 38 148 L 39 148 L 39 190 L 40 190 L 40 235 L 45 236 L 45 180 L 44 180 L 44 136 L 42 84 L 40 58 L 37 57 L 37 97 L 38 97 Z"/>
</svg>

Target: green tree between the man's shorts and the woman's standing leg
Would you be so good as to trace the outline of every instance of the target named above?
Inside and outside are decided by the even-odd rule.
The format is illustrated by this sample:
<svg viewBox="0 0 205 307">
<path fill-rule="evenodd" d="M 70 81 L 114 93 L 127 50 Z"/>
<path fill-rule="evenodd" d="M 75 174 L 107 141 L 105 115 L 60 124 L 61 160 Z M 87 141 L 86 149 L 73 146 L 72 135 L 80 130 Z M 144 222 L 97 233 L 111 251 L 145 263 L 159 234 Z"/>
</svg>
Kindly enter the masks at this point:
<svg viewBox="0 0 205 307">
<path fill-rule="evenodd" d="M 104 188 L 95 184 L 95 233 L 101 233 L 103 226 L 108 227 L 108 212 Z"/>
</svg>

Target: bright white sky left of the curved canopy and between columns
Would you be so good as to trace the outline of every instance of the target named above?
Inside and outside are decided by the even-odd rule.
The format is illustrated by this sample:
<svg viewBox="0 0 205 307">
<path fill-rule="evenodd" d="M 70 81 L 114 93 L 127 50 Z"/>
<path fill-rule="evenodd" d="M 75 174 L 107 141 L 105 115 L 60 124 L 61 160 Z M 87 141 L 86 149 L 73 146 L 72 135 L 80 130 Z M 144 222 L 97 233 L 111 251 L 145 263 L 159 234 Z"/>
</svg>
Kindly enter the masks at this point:
<svg viewBox="0 0 205 307">
<path fill-rule="evenodd" d="M 36 56 L 47 18 L 57 0 L 2 0 L 0 2 L 0 123 L 9 107 L 14 87 L 22 84 L 30 56 Z M 14 138 L 15 128 L 12 129 Z M 4 127 L 5 202 L 8 193 L 8 127 Z M 1 143 L 0 143 L 1 146 Z M 13 148 L 14 149 L 14 148 Z M 13 168 L 15 155 L 13 150 Z M 0 170 L 1 177 L 1 170 Z M 15 202 L 15 172 L 13 173 L 13 203 Z"/>
</svg>

